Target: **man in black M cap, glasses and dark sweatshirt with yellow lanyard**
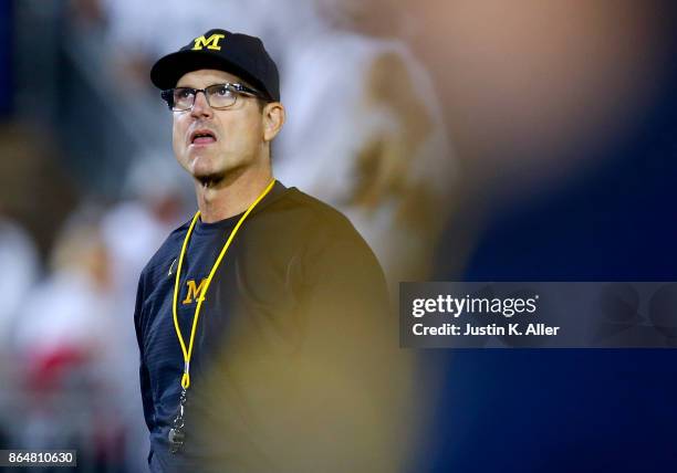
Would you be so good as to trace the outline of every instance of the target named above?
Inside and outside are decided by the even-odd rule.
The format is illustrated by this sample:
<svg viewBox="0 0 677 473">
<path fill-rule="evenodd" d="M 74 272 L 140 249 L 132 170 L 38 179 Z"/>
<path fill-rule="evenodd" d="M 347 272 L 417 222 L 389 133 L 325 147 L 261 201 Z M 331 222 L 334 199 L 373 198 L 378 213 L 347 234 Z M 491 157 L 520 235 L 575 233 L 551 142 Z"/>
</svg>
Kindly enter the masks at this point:
<svg viewBox="0 0 677 473">
<path fill-rule="evenodd" d="M 150 470 L 394 471 L 406 370 L 383 272 L 347 219 L 273 179 L 274 62 L 210 30 L 150 78 L 199 209 L 137 291 Z"/>
</svg>

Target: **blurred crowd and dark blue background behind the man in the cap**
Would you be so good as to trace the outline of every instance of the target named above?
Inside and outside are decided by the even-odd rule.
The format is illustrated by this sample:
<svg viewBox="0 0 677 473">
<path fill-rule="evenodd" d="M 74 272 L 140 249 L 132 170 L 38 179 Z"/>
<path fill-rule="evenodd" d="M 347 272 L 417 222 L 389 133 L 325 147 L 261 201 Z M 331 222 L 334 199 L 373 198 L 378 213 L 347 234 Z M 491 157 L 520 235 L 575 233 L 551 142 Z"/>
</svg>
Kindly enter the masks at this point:
<svg viewBox="0 0 677 473">
<path fill-rule="evenodd" d="M 351 218 L 395 296 L 435 278 L 675 281 L 674 10 L 0 0 L 0 445 L 144 471 L 136 283 L 195 209 L 148 78 L 160 55 L 210 28 L 263 39 L 289 115 L 275 175 Z M 419 358 L 435 382 L 406 471 L 676 460 L 671 351 Z"/>
</svg>

